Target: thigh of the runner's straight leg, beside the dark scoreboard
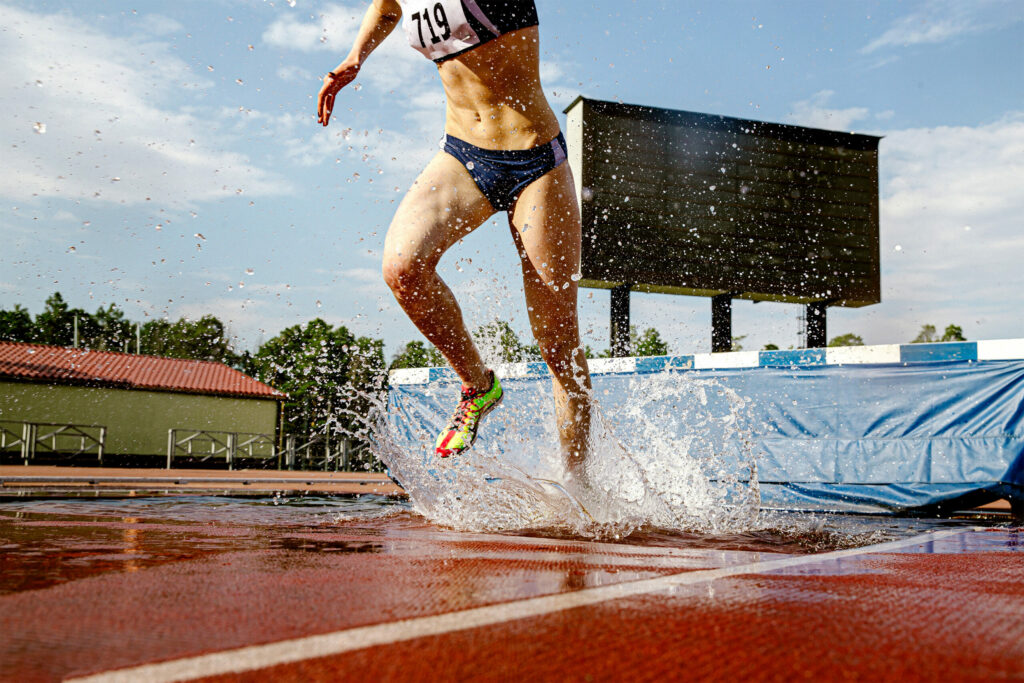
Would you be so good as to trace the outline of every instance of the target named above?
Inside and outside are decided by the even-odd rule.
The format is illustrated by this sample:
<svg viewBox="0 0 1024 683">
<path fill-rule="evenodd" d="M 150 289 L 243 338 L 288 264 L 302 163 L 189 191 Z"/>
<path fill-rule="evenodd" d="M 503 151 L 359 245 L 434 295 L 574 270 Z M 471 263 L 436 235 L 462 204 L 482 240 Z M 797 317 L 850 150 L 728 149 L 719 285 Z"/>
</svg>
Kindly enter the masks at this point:
<svg viewBox="0 0 1024 683">
<path fill-rule="evenodd" d="M 563 163 L 527 185 L 510 223 L 529 305 L 574 311 L 582 228 L 569 165 Z"/>
</svg>

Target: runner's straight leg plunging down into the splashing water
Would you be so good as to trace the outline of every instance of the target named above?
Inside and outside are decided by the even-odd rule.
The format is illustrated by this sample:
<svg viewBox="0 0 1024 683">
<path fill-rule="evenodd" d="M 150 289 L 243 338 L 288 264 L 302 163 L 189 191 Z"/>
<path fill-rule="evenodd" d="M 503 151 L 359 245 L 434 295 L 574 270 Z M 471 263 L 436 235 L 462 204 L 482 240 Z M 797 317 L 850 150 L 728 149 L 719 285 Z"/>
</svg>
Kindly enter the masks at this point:
<svg viewBox="0 0 1024 683">
<path fill-rule="evenodd" d="M 522 263 L 529 324 L 551 369 L 555 417 L 566 465 L 580 471 L 589 451 L 590 371 L 580 342 L 577 280 L 582 227 L 568 164 L 531 182 L 509 213 Z"/>
</svg>

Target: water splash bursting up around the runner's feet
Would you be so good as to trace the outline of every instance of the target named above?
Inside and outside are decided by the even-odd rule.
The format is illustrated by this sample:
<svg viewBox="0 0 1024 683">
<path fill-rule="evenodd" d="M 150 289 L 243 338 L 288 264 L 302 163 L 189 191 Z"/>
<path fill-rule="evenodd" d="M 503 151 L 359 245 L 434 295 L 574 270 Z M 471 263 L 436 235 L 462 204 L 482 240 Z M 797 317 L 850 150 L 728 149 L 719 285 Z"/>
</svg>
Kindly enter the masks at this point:
<svg viewBox="0 0 1024 683">
<path fill-rule="evenodd" d="M 502 376 L 508 368 L 497 370 Z M 396 391 L 376 401 L 366 425 L 374 455 L 416 511 L 453 528 L 622 538 L 638 529 L 725 532 L 758 524 L 741 396 L 721 381 L 680 373 L 597 377 L 595 393 L 591 454 L 575 478 L 557 446 L 547 379 L 507 381 L 504 404 L 461 457 L 433 453 L 456 383 Z"/>
</svg>

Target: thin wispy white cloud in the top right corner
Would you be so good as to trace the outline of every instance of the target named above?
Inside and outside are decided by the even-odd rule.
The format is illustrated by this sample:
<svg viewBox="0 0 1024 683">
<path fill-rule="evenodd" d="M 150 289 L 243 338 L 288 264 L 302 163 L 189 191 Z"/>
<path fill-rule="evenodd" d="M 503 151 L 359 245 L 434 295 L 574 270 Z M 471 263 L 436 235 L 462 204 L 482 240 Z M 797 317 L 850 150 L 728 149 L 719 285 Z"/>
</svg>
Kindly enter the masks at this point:
<svg viewBox="0 0 1024 683">
<path fill-rule="evenodd" d="M 937 44 L 965 34 L 1005 28 L 1024 18 L 1020 7 L 1016 0 L 933 0 L 893 22 L 860 51 L 868 54 L 889 47 Z"/>
</svg>

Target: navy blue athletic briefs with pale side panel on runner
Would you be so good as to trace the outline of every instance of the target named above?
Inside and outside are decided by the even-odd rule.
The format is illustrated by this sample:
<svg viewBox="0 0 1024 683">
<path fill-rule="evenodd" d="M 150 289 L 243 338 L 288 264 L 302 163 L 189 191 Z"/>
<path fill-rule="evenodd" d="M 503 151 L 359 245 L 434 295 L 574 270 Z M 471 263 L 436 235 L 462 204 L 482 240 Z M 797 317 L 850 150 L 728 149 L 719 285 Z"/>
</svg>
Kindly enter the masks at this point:
<svg viewBox="0 0 1024 683">
<path fill-rule="evenodd" d="M 558 133 L 532 150 L 484 150 L 445 135 L 444 152 L 462 162 L 495 211 L 508 211 L 526 185 L 565 161 L 565 138 Z"/>
</svg>

